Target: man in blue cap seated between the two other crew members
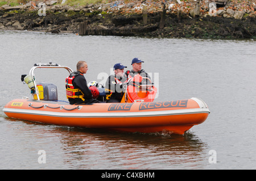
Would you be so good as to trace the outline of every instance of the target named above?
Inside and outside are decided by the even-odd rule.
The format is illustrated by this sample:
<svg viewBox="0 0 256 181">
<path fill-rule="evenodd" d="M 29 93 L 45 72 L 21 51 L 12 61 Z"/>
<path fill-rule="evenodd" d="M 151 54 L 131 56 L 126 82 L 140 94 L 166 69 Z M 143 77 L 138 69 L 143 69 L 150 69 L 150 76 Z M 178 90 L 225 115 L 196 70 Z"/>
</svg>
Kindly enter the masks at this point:
<svg viewBox="0 0 256 181">
<path fill-rule="evenodd" d="M 124 86 L 126 85 L 127 78 L 124 77 L 124 69 L 127 66 L 118 63 L 114 65 L 114 75 L 110 75 L 106 81 L 106 102 L 107 103 L 119 103 L 125 94 Z"/>
</svg>

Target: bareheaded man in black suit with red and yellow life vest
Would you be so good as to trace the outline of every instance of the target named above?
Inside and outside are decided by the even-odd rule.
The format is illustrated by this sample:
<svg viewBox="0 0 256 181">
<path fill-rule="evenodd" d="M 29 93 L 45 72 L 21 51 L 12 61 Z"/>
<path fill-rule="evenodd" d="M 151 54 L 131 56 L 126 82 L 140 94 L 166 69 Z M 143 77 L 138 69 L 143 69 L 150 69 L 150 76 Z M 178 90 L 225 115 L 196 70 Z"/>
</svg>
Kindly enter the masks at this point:
<svg viewBox="0 0 256 181">
<path fill-rule="evenodd" d="M 84 74 L 88 70 L 85 61 L 79 61 L 76 65 L 77 71 L 74 71 L 66 78 L 66 94 L 70 104 L 88 104 L 98 103 L 92 98 L 92 92 L 87 86 Z"/>
</svg>

